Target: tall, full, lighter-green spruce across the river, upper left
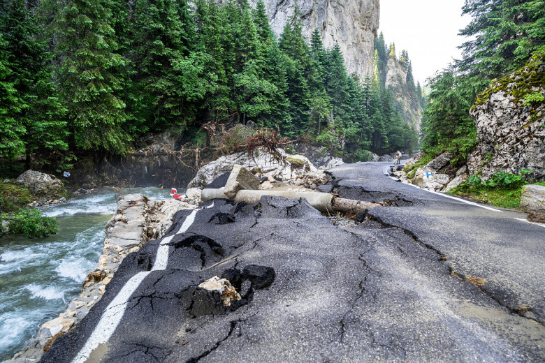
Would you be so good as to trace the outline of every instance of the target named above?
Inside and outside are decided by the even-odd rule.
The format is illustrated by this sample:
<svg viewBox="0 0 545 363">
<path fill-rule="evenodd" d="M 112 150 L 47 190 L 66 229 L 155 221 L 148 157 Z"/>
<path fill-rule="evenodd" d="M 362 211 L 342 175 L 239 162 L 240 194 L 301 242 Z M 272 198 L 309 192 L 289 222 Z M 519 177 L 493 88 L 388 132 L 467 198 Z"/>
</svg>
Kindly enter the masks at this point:
<svg viewBox="0 0 545 363">
<path fill-rule="evenodd" d="M 61 99 L 75 147 L 121 153 L 130 141 L 122 93 L 127 61 L 117 53 L 112 0 L 68 0 L 59 14 Z"/>
</svg>

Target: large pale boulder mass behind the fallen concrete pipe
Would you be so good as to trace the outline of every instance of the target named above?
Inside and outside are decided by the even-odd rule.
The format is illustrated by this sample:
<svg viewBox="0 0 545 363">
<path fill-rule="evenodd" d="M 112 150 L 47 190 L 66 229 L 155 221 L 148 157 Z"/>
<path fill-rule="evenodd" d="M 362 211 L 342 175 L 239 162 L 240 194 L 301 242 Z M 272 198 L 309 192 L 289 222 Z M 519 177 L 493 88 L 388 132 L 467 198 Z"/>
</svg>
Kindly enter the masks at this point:
<svg viewBox="0 0 545 363">
<path fill-rule="evenodd" d="M 199 169 L 187 188 L 203 189 L 217 177 L 231 172 L 234 165 L 242 165 L 254 174 L 276 177 L 282 179 L 283 182 L 288 182 L 308 171 L 317 171 L 317 168 L 314 168 L 314 165 L 303 155 L 286 154 L 282 149 L 278 149 L 278 152 L 282 156 L 282 160 L 263 150 L 254 151 L 254 155 L 251 157 L 248 157 L 247 152 L 221 156 L 216 161 Z"/>
</svg>

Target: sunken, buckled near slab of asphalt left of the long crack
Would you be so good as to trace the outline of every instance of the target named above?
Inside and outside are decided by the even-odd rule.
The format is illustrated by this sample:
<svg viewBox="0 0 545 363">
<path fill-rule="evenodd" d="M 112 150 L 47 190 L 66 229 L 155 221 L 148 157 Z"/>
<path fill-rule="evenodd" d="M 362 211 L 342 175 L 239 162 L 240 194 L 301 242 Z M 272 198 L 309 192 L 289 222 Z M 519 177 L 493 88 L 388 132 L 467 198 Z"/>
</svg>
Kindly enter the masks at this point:
<svg viewBox="0 0 545 363">
<path fill-rule="evenodd" d="M 212 276 L 242 299 L 227 307 L 197 288 Z M 402 230 L 337 228 L 305 200 L 266 196 L 179 212 L 41 362 L 537 362 L 544 342 L 542 325 Z"/>
</svg>

